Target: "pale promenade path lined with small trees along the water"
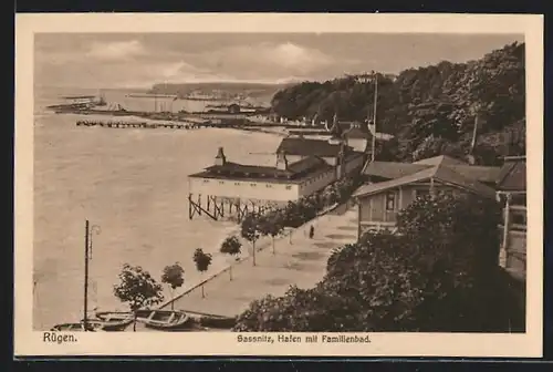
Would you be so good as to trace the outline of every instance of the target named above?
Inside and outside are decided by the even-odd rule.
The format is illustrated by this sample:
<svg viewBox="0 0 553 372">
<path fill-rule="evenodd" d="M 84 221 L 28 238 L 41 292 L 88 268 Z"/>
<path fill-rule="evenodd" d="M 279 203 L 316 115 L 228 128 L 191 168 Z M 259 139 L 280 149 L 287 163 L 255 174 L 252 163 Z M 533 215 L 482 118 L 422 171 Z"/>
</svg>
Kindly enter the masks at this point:
<svg viewBox="0 0 553 372">
<path fill-rule="evenodd" d="M 315 236 L 309 238 L 313 225 Z M 257 265 L 248 257 L 232 266 L 232 280 L 229 271 L 221 272 L 201 287 L 177 297 L 175 310 L 234 317 L 248 308 L 251 301 L 267 294 L 282 296 L 291 285 L 310 288 L 319 282 L 326 272 L 326 260 L 333 248 L 357 239 L 356 208 L 330 213 L 296 229 L 290 239 L 281 238 L 275 242 L 273 255 L 271 245 L 257 251 Z M 170 309 L 166 303 L 164 309 Z"/>
</svg>

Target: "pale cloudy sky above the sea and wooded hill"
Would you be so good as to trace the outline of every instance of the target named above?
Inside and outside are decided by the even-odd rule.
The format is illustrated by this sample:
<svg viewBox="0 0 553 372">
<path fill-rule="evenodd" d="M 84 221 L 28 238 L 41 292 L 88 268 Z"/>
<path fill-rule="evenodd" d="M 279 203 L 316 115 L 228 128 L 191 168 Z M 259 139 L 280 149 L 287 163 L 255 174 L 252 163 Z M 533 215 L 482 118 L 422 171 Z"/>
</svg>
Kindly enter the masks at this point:
<svg viewBox="0 0 553 372">
<path fill-rule="evenodd" d="M 324 81 L 467 62 L 517 34 L 60 33 L 35 34 L 41 86 L 149 87 L 154 83 Z"/>
</svg>

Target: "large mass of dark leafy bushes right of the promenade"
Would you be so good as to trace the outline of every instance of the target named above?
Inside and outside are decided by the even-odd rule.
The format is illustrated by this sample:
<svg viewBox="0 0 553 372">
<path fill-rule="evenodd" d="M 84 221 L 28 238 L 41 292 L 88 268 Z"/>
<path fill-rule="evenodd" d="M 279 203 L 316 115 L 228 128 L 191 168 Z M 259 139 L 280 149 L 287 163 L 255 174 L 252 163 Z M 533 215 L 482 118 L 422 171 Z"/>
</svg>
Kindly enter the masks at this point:
<svg viewBox="0 0 553 372">
<path fill-rule="evenodd" d="M 314 288 L 253 301 L 233 330 L 510 330 L 520 311 L 505 309 L 514 300 L 497 265 L 498 210 L 474 197 L 415 202 L 398 234 L 367 232 L 334 251 Z"/>
</svg>

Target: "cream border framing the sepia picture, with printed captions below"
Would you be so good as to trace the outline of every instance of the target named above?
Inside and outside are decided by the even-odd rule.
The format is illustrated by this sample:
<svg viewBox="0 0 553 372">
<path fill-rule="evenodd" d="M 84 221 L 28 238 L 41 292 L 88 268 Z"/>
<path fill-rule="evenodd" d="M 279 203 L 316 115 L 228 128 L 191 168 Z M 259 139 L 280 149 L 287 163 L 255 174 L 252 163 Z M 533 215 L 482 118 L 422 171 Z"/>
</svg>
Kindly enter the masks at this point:
<svg viewBox="0 0 553 372">
<path fill-rule="evenodd" d="M 371 343 L 241 343 L 237 333 L 32 331 L 33 34 L 39 32 L 524 33 L 526 43 L 528 291 L 525 334 L 374 333 Z M 543 328 L 543 17 L 533 14 L 43 13 L 15 17 L 14 354 L 541 356 Z M 249 333 L 251 334 L 251 333 Z M 276 338 L 279 333 L 267 333 Z M 303 333 L 299 333 L 302 338 Z M 322 334 L 322 333 L 321 333 Z M 354 333 L 348 333 L 354 334 Z"/>
</svg>

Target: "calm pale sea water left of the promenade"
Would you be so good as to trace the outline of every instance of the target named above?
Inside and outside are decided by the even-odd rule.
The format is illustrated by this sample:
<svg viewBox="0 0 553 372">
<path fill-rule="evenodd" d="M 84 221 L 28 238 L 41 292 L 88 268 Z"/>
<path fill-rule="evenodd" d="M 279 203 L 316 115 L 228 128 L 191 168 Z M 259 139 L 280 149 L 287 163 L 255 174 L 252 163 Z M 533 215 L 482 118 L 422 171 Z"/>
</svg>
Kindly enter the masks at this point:
<svg viewBox="0 0 553 372">
<path fill-rule="evenodd" d="M 196 248 L 213 254 L 210 270 L 227 262 L 221 240 L 237 225 L 188 218 L 187 175 L 212 165 L 225 147 L 232 162 L 271 165 L 280 137 L 234 130 L 102 128 L 76 126 L 90 116 L 44 110 L 64 94 L 94 91 L 36 90 L 34 106 L 33 328 L 79 321 L 84 299 L 84 228 L 92 235 L 90 308 L 126 310 L 113 296 L 124 264 L 159 280 L 176 261 L 185 287 L 200 276 Z M 124 92 L 105 93 L 106 100 Z M 102 120 L 109 120 L 103 116 Z M 122 120 L 115 117 L 112 120 Z M 166 299 L 169 291 L 165 291 Z"/>
</svg>

